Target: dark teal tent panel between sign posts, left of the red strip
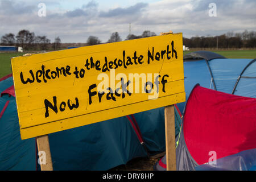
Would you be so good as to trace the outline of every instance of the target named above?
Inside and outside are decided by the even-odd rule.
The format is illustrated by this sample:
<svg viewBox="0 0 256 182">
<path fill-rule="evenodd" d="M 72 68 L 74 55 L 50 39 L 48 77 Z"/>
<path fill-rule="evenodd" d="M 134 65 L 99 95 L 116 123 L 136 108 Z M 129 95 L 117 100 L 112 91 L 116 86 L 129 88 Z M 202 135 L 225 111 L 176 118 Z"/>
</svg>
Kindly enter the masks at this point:
<svg viewBox="0 0 256 182">
<path fill-rule="evenodd" d="M 49 134 L 49 143 L 56 170 L 106 170 L 147 155 L 125 117 Z"/>
</svg>

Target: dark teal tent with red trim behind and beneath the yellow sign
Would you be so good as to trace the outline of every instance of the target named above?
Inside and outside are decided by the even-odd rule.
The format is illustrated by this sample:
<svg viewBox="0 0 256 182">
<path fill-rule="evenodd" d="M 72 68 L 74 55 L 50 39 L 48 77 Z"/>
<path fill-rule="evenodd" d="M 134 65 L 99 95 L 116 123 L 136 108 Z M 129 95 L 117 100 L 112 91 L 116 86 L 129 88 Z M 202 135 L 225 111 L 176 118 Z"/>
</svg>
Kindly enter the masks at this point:
<svg viewBox="0 0 256 182">
<path fill-rule="evenodd" d="M 35 138 L 21 140 L 13 77 L 0 81 L 0 170 L 36 170 Z M 8 104 L 6 104 L 8 102 Z M 7 106 L 6 106 L 7 105 Z M 132 117 L 130 117 L 132 118 Z M 134 114 L 143 147 L 127 117 L 49 134 L 54 170 L 108 170 L 165 150 L 164 108 Z M 175 129 L 181 119 L 175 107 Z M 146 150 L 145 150 L 146 148 Z"/>
</svg>

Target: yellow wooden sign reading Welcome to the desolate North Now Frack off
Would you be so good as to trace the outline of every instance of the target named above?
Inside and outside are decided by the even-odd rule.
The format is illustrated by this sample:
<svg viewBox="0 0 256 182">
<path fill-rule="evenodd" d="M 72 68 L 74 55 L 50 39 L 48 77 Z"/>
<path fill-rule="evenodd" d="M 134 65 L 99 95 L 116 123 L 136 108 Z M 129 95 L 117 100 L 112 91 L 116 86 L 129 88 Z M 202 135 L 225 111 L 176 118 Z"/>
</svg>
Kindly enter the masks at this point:
<svg viewBox="0 0 256 182">
<path fill-rule="evenodd" d="M 185 101 L 182 34 L 14 57 L 22 139 Z"/>
</svg>

